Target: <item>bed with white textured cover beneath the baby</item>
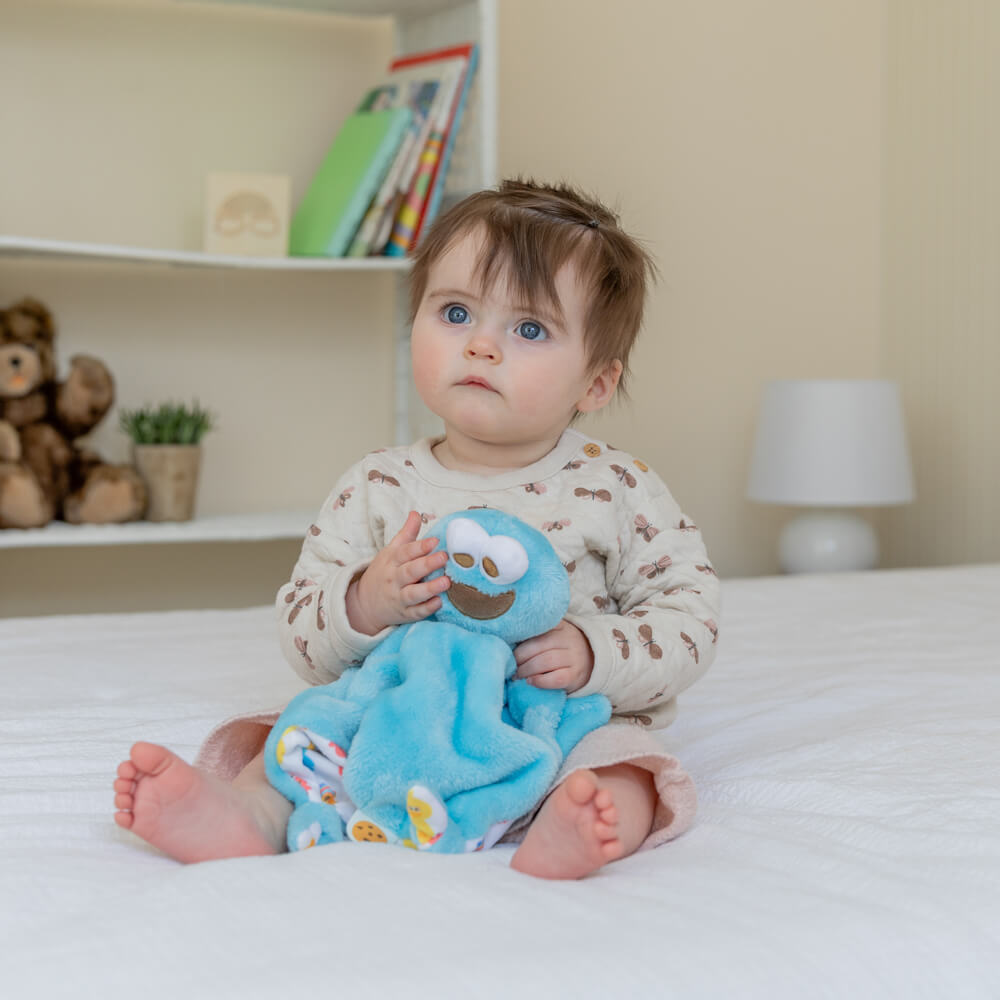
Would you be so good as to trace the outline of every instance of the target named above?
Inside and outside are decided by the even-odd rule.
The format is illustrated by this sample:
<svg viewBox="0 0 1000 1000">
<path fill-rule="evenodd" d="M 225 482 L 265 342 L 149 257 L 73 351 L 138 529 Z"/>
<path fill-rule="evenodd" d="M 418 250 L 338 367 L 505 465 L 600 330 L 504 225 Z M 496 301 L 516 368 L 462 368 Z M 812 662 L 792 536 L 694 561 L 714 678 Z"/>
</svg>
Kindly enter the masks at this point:
<svg viewBox="0 0 1000 1000">
<path fill-rule="evenodd" d="M 380 845 L 184 867 L 120 830 L 299 688 L 268 608 L 0 619 L 5 997 L 1000 996 L 1000 566 L 733 580 L 663 734 L 692 830 L 576 883 Z"/>
</svg>

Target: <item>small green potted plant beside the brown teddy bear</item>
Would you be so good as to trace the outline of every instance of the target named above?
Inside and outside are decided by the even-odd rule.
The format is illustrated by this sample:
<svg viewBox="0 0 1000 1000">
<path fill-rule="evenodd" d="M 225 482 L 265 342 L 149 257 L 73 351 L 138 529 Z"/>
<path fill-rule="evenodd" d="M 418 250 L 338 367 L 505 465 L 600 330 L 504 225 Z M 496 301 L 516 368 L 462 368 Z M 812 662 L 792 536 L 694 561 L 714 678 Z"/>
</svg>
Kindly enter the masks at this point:
<svg viewBox="0 0 1000 1000">
<path fill-rule="evenodd" d="M 161 403 L 121 410 L 119 425 L 132 439 L 135 466 L 149 490 L 146 520 L 191 520 L 201 439 L 215 426 L 212 414 L 197 402 Z"/>
</svg>

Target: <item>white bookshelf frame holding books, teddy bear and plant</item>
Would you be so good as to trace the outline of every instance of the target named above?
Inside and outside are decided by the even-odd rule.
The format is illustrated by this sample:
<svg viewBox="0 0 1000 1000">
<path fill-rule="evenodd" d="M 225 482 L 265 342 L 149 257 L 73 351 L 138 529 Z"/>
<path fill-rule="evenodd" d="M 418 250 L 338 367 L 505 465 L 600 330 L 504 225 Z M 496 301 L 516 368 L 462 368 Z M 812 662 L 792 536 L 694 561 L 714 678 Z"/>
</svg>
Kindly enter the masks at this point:
<svg viewBox="0 0 1000 1000">
<path fill-rule="evenodd" d="M 39 0 L 44 8 L 51 0 Z M 444 47 L 466 41 L 479 46 L 479 62 L 458 134 L 448 176 L 444 205 L 496 181 L 497 123 L 497 2 L 498 0 L 75 0 L 79 6 L 139 7 L 161 6 L 181 11 L 190 9 L 192 30 L 197 30 L 198 8 L 229 6 L 244 8 L 247 17 L 301 17 L 309 15 L 351 15 L 390 18 L 397 52 Z M 61 9 L 52 3 L 53 11 Z M 235 14 L 235 12 L 234 12 Z M 53 14 L 53 16 L 56 16 Z M 186 15 L 185 15 L 186 16 Z M 333 23 L 333 22 L 331 22 Z M 380 70 L 373 67 L 372 79 Z M 371 82 L 359 81 L 360 86 Z M 58 234 L 56 234 L 58 235 Z M 150 265 L 174 271 L 206 269 L 233 272 L 270 272 L 296 274 L 306 272 L 342 273 L 364 276 L 395 275 L 397 302 L 396 350 L 394 372 L 395 437 L 402 442 L 419 425 L 420 408 L 410 399 L 408 330 L 404 323 L 406 303 L 402 280 L 409 262 L 398 258 L 318 259 L 306 257 L 253 258 L 202 253 L 182 248 L 127 246 L 118 243 L 45 238 L 0 232 L 0 266 L 4 260 L 26 262 L 44 268 L 47 265 L 74 266 L 110 264 L 115 266 L 112 280 L 123 286 L 132 269 Z M 108 280 L 108 279 L 105 279 Z M 336 344 L 331 345 L 336 351 Z M 0 530 L 0 548 L 72 547 L 101 545 L 145 545 L 159 543 L 258 541 L 275 538 L 299 538 L 308 528 L 310 514 L 268 512 L 233 513 L 198 518 L 186 524 L 151 524 L 74 526 L 56 522 L 33 531 Z"/>
</svg>

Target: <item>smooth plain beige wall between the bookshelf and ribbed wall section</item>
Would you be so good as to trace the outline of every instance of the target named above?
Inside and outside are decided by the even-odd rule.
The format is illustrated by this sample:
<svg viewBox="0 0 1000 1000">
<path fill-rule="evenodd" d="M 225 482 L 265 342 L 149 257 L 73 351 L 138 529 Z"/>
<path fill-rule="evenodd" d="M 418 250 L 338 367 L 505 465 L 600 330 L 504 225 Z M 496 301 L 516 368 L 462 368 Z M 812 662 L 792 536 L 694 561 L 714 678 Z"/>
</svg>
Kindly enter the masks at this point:
<svg viewBox="0 0 1000 1000">
<path fill-rule="evenodd" d="M 743 495 L 763 380 L 880 366 L 880 5 L 502 9 L 501 168 L 616 202 L 663 275 L 633 403 L 599 432 L 657 468 L 724 575 L 774 572 L 786 512 Z"/>
</svg>

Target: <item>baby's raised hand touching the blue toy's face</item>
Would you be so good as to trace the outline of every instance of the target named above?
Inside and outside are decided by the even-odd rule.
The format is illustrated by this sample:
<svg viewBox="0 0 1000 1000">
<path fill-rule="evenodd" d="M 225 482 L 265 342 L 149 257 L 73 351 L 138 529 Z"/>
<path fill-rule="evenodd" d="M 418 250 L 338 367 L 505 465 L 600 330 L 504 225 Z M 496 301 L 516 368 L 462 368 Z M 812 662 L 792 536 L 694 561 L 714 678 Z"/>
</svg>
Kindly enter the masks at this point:
<svg viewBox="0 0 1000 1000">
<path fill-rule="evenodd" d="M 375 635 L 388 625 L 420 621 L 441 607 L 437 595 L 451 586 L 448 577 L 421 581 L 447 563 L 448 553 L 432 552 L 438 540 L 417 541 L 419 532 L 420 515 L 411 510 L 399 534 L 347 588 L 347 618 L 358 632 Z"/>
</svg>

